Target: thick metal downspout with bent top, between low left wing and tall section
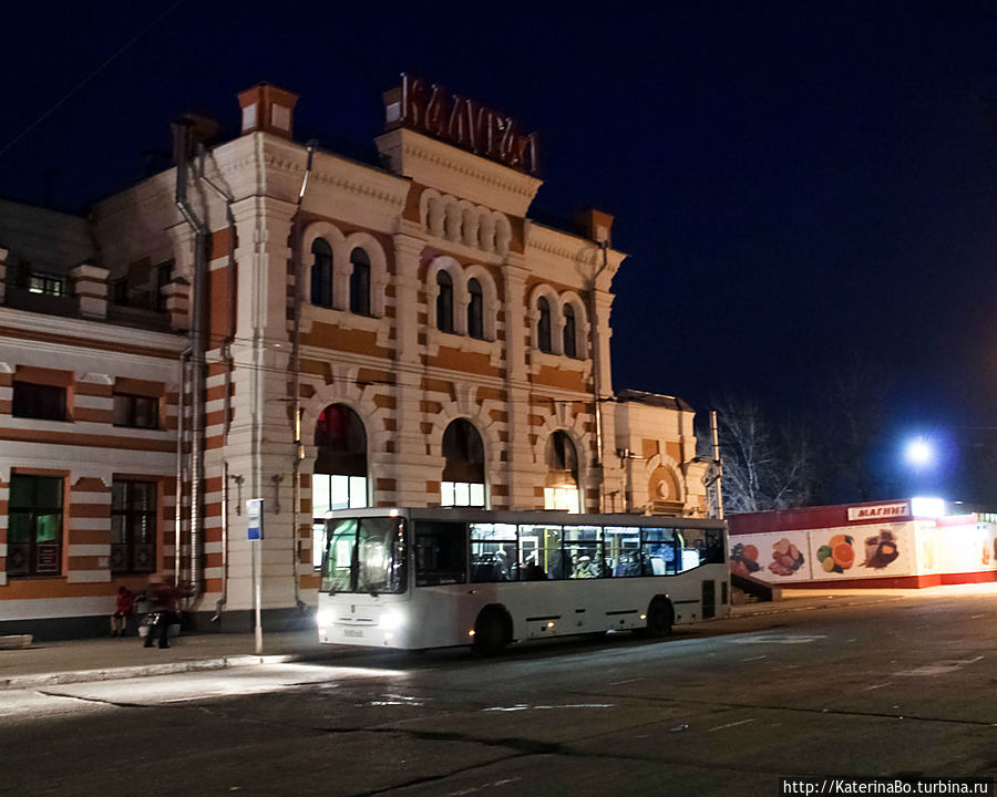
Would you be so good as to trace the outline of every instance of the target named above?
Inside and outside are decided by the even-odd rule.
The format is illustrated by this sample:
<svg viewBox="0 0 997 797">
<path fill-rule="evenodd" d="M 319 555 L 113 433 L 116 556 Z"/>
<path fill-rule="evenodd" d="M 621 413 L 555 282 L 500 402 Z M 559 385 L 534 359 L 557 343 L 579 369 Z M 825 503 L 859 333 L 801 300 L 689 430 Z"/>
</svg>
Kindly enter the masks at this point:
<svg viewBox="0 0 997 797">
<path fill-rule="evenodd" d="M 204 387 L 205 387 L 205 245 L 207 231 L 187 201 L 187 162 L 189 125 L 174 123 L 174 154 L 176 159 L 176 207 L 194 230 L 194 293 L 191 308 L 191 594 L 196 603 L 202 594 L 202 501 L 204 500 Z"/>
</svg>

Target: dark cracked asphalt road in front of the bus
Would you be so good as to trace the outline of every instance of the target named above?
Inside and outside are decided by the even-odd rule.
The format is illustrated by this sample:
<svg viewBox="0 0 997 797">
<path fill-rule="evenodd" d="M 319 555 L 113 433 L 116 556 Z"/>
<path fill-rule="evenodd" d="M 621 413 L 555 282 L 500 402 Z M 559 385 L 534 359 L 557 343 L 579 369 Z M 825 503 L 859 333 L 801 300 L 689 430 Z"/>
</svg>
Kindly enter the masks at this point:
<svg viewBox="0 0 997 797">
<path fill-rule="evenodd" d="M 995 621 L 990 597 L 915 599 L 498 660 L 0 692 L 0 794 L 743 797 L 792 774 L 994 777 Z"/>
</svg>

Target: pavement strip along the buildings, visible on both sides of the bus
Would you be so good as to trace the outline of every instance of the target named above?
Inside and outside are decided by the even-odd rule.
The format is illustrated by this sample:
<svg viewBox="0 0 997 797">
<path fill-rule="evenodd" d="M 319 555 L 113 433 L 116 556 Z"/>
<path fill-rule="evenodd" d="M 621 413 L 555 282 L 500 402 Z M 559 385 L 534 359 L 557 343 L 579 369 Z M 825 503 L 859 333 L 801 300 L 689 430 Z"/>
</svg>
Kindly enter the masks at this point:
<svg viewBox="0 0 997 797">
<path fill-rule="evenodd" d="M 997 583 L 932 587 L 922 590 L 787 590 L 782 600 L 731 608 L 730 620 L 854 605 L 872 605 L 911 598 L 997 597 Z M 254 652 L 251 633 L 206 633 L 173 640 L 168 650 L 143 648 L 137 636 L 125 639 L 38 642 L 29 648 L 0 650 L 0 690 L 38 689 L 83 681 L 166 675 L 195 670 L 223 670 L 248 664 L 337 660 L 370 652 L 322 645 L 315 630 L 264 632 L 263 655 Z"/>
</svg>

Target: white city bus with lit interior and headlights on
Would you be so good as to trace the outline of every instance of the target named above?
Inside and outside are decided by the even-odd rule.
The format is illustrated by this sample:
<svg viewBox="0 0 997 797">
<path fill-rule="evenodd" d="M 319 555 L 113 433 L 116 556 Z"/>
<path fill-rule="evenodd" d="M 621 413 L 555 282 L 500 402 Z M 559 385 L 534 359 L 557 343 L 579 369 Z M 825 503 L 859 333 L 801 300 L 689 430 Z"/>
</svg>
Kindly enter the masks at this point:
<svg viewBox="0 0 997 797">
<path fill-rule="evenodd" d="M 637 631 L 729 611 L 727 525 L 473 508 L 326 521 L 319 641 L 404 650 Z"/>
</svg>

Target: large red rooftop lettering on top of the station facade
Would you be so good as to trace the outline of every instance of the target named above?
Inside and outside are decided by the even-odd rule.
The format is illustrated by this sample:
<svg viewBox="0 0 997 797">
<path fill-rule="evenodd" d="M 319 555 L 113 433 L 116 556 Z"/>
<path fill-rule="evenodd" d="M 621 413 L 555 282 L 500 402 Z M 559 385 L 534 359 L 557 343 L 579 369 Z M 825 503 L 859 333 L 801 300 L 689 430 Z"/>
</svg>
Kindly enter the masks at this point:
<svg viewBox="0 0 997 797">
<path fill-rule="evenodd" d="M 522 134 L 512 116 L 443 86 L 402 73 L 401 85 L 384 95 L 388 130 L 409 127 L 505 166 L 537 174 L 536 133 Z"/>
</svg>

